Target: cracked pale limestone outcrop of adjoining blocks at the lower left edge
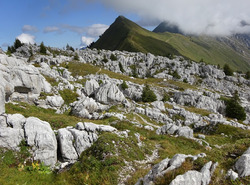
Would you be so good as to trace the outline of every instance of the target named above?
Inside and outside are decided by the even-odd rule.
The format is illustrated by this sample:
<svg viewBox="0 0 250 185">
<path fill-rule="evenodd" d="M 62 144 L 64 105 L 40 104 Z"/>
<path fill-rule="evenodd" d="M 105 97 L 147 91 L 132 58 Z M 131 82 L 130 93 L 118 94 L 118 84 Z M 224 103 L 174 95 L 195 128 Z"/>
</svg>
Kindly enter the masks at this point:
<svg viewBox="0 0 250 185">
<path fill-rule="evenodd" d="M 2 116 L 1 122 L 0 147 L 19 150 L 21 141 L 25 141 L 31 147 L 34 160 L 48 166 L 56 164 L 57 141 L 48 122 L 35 117 L 26 119 L 20 114 Z"/>
</svg>

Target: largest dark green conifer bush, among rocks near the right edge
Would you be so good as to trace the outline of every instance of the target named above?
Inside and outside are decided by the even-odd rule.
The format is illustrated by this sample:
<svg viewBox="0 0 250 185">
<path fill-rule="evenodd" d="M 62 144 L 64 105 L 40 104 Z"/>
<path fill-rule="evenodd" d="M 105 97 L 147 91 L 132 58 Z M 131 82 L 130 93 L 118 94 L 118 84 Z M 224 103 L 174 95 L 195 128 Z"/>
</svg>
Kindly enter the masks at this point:
<svg viewBox="0 0 250 185">
<path fill-rule="evenodd" d="M 246 113 L 244 108 L 239 104 L 238 92 L 235 91 L 234 96 L 226 101 L 226 116 L 229 118 L 236 118 L 238 120 L 245 120 Z"/>
</svg>

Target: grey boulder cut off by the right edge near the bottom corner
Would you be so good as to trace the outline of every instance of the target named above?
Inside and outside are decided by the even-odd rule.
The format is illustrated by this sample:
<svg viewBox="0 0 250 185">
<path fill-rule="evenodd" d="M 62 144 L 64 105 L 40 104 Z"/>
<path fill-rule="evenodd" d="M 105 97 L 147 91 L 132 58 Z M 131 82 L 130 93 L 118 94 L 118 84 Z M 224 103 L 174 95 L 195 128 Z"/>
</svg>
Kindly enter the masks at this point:
<svg viewBox="0 0 250 185">
<path fill-rule="evenodd" d="M 240 177 L 250 175 L 250 147 L 240 156 L 234 166 Z"/>
</svg>

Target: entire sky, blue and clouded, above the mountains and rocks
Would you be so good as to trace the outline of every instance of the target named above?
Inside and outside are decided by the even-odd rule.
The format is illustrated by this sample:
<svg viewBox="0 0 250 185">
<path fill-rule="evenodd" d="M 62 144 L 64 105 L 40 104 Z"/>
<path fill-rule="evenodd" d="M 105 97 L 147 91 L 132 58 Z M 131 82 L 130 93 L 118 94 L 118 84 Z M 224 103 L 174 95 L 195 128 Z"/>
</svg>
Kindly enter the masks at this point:
<svg viewBox="0 0 250 185">
<path fill-rule="evenodd" d="M 23 42 L 88 45 L 119 15 L 152 30 L 162 21 L 184 33 L 250 33 L 249 0 L 0 0 L 0 47 Z"/>
</svg>

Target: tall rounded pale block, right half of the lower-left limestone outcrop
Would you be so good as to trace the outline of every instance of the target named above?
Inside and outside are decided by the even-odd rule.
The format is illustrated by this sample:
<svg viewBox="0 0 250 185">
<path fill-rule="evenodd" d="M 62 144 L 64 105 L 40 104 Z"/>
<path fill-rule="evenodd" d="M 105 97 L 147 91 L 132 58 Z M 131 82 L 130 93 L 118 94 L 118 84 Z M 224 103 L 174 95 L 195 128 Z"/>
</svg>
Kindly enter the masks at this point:
<svg viewBox="0 0 250 185">
<path fill-rule="evenodd" d="M 35 160 L 53 166 L 57 162 L 57 141 L 50 124 L 35 117 L 29 117 L 24 125 L 27 144 L 32 147 Z"/>
</svg>

